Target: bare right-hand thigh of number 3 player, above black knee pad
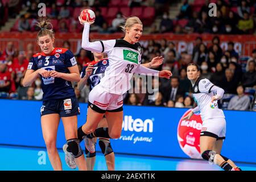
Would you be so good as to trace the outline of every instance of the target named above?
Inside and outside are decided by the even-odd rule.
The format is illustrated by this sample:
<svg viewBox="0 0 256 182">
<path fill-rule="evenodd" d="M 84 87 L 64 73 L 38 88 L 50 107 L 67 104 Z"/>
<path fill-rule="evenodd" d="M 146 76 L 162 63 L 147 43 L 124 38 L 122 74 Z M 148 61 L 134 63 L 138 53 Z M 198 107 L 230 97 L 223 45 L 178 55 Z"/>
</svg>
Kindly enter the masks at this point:
<svg viewBox="0 0 256 182">
<path fill-rule="evenodd" d="M 64 126 L 66 140 L 77 138 L 77 115 L 62 117 L 61 119 Z"/>
</svg>

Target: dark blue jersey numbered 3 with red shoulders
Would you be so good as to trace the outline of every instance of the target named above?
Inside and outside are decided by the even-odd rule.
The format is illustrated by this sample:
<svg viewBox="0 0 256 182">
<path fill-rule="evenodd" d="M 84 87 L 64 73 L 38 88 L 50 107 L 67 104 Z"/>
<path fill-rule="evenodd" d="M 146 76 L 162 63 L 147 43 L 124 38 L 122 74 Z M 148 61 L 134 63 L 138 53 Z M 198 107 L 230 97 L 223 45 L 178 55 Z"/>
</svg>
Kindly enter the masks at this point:
<svg viewBox="0 0 256 182">
<path fill-rule="evenodd" d="M 70 73 L 68 68 L 76 64 L 76 59 L 71 51 L 65 48 L 55 48 L 49 55 L 45 55 L 43 52 L 36 53 L 28 63 L 27 69 L 36 71 L 42 68 L 47 71 L 55 70 L 56 72 Z M 57 77 L 44 78 L 41 75 L 40 78 L 43 101 L 75 96 L 71 81 Z"/>
</svg>

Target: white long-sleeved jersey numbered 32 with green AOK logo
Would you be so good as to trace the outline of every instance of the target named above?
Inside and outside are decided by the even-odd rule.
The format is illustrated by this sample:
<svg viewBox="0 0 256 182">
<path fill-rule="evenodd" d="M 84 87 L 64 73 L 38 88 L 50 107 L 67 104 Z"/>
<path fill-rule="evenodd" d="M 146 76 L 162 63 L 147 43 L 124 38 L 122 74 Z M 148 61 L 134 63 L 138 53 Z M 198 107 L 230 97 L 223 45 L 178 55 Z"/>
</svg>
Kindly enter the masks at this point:
<svg viewBox="0 0 256 182">
<path fill-rule="evenodd" d="M 130 44 L 123 39 L 89 42 L 89 24 L 84 24 L 82 48 L 92 52 L 106 52 L 109 67 L 100 85 L 106 92 L 124 94 L 130 89 L 133 73 L 141 73 L 141 44 Z M 143 68 L 144 73 L 156 74 L 158 71 Z"/>
</svg>

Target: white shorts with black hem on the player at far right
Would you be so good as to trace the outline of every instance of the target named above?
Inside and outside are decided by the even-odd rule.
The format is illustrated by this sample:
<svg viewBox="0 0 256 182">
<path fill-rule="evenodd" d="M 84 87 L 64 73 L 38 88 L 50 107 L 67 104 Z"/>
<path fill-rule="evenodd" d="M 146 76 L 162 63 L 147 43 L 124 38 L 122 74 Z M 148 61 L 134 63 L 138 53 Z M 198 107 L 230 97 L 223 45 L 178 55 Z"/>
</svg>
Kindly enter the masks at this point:
<svg viewBox="0 0 256 182">
<path fill-rule="evenodd" d="M 200 136 L 214 137 L 218 139 L 226 138 L 225 118 L 210 118 L 203 121 Z"/>
</svg>

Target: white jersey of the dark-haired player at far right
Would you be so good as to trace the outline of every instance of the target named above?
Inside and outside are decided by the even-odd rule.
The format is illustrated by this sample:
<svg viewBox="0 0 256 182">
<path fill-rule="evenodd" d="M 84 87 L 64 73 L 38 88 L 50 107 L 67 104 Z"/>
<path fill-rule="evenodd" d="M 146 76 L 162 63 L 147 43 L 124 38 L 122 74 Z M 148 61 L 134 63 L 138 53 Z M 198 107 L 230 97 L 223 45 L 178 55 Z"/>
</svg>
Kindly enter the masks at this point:
<svg viewBox="0 0 256 182">
<path fill-rule="evenodd" d="M 193 98 L 200 109 L 202 121 L 209 118 L 225 118 L 223 111 L 218 108 L 217 101 L 212 102 L 212 96 L 216 94 L 211 92 L 214 86 L 212 82 L 199 77 L 192 86 Z"/>
</svg>

